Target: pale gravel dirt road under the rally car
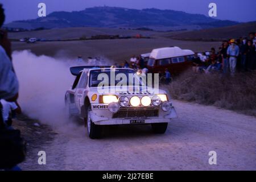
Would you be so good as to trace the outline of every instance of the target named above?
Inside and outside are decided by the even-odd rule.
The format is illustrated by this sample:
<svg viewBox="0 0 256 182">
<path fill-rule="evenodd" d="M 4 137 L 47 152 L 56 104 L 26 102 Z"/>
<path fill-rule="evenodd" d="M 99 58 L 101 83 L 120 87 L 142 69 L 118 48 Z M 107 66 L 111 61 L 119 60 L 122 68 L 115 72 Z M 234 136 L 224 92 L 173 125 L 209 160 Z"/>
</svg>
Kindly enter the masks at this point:
<svg viewBox="0 0 256 182">
<path fill-rule="evenodd" d="M 92 140 L 83 126 L 57 131 L 44 144 L 47 164 L 28 156 L 24 170 L 252 170 L 256 169 L 256 118 L 187 102 L 174 101 L 178 119 L 164 135 L 150 126 L 106 127 L 104 138 Z M 209 165 L 209 151 L 217 165 Z"/>
</svg>

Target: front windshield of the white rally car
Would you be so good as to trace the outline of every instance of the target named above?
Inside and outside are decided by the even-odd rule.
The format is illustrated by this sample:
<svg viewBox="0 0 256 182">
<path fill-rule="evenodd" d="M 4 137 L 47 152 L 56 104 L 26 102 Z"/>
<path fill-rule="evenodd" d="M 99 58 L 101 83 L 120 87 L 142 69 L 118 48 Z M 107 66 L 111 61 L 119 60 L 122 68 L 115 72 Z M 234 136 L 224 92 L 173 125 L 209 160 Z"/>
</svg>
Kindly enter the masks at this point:
<svg viewBox="0 0 256 182">
<path fill-rule="evenodd" d="M 118 75 L 119 73 L 121 74 Z M 100 83 L 112 86 L 112 82 L 114 83 L 114 86 L 117 86 L 117 84 L 123 80 L 123 77 L 126 77 L 125 79 L 127 80 L 126 83 L 123 82 L 123 84 L 126 84 L 127 86 L 142 85 L 140 77 L 132 69 L 96 69 L 90 71 L 89 86 L 97 87 Z"/>
</svg>

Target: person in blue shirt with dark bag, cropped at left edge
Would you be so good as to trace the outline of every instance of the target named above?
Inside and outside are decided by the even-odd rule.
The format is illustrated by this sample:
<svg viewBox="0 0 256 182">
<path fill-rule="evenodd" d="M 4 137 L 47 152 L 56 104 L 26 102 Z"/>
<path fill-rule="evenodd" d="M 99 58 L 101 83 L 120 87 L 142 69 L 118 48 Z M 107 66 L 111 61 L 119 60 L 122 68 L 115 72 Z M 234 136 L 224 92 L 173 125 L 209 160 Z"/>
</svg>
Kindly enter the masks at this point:
<svg viewBox="0 0 256 182">
<path fill-rule="evenodd" d="M 5 21 L 4 10 L 0 4 L 0 27 Z M 0 31 L 0 100 L 15 102 L 18 98 L 18 80 L 11 63 L 11 47 L 7 34 Z M 6 126 L 0 103 L 0 169 L 19 169 L 16 164 L 25 158 L 26 145 L 20 137 L 20 131 Z"/>
</svg>

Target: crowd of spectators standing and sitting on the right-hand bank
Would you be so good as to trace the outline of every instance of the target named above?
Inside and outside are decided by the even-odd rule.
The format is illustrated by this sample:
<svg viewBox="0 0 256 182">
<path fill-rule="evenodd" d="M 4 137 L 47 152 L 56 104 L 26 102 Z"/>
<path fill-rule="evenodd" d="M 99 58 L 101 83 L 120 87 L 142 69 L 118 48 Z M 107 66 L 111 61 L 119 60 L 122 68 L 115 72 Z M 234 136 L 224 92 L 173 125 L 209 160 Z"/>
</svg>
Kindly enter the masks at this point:
<svg viewBox="0 0 256 182">
<path fill-rule="evenodd" d="M 216 51 L 195 53 L 193 71 L 200 73 L 222 72 L 234 75 L 237 71 L 247 72 L 256 69 L 255 32 L 240 39 L 224 40 Z"/>
</svg>

